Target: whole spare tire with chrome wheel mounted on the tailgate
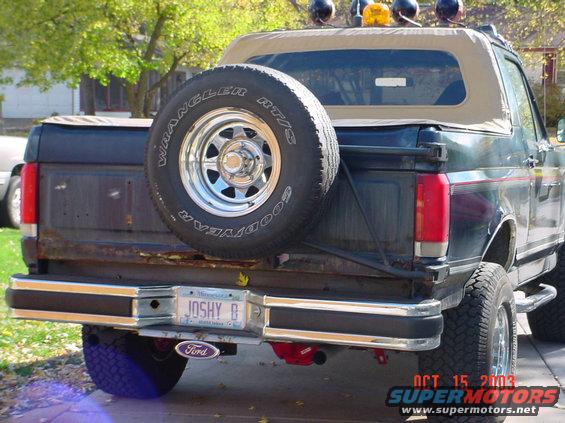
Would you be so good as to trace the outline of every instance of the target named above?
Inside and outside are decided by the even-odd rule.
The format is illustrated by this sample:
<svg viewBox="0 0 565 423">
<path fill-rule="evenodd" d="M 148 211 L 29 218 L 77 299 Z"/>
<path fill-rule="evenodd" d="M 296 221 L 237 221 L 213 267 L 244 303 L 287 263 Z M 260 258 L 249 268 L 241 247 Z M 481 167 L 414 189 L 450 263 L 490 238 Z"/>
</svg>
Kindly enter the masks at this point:
<svg viewBox="0 0 565 423">
<path fill-rule="evenodd" d="M 145 174 L 179 239 L 245 259 L 306 235 L 338 165 L 331 121 L 306 87 L 270 68 L 230 65 L 190 79 L 161 109 Z"/>
</svg>

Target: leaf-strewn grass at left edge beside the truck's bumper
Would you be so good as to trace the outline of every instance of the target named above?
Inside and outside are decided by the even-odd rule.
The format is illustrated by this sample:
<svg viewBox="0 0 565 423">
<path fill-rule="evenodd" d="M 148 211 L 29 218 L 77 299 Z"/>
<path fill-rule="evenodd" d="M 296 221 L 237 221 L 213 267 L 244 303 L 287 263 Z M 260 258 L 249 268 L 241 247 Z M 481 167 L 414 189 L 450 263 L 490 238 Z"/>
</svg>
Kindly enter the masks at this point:
<svg viewBox="0 0 565 423">
<path fill-rule="evenodd" d="M 26 271 L 19 231 L 0 228 L 0 420 L 79 400 L 93 388 L 82 361 L 79 325 L 8 317 L 4 292 L 10 275 Z M 52 382 L 68 389 L 54 393 Z"/>
</svg>

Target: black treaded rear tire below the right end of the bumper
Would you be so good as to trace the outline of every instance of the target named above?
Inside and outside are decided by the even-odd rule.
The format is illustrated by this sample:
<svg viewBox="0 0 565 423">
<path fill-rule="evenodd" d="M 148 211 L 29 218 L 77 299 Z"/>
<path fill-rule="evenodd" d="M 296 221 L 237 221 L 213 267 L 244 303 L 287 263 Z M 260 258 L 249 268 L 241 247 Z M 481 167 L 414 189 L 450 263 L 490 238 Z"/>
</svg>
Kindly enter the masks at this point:
<svg viewBox="0 0 565 423">
<path fill-rule="evenodd" d="M 491 348 L 499 306 L 508 313 L 510 329 L 510 368 L 516 369 L 516 305 L 512 285 L 502 266 L 482 263 L 465 287 L 461 303 L 444 312 L 441 345 L 418 354 L 422 375 L 439 375 L 439 386 L 454 386 L 454 376 L 468 375 L 468 386 L 482 386 L 481 376 L 491 372 Z M 456 418 L 428 415 L 437 422 L 500 422 L 504 417 L 462 416 Z"/>
</svg>

